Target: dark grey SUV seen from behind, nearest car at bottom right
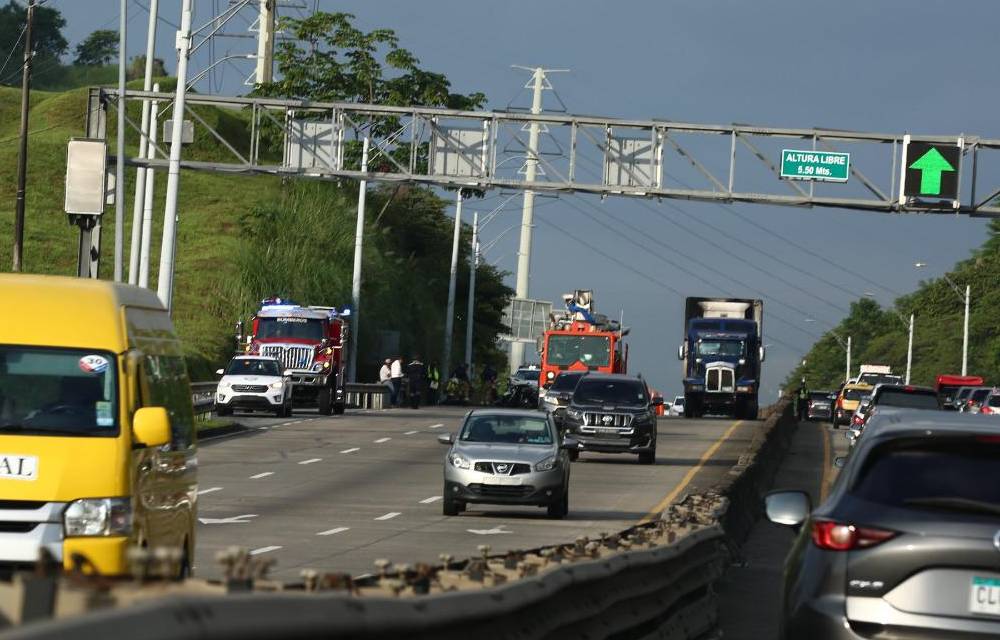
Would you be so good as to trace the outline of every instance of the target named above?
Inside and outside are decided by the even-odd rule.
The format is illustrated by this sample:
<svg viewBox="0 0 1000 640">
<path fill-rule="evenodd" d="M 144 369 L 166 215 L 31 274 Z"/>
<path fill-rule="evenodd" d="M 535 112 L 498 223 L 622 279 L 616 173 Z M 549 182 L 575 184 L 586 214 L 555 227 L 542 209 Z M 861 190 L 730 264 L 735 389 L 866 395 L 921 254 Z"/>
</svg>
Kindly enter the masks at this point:
<svg viewBox="0 0 1000 640">
<path fill-rule="evenodd" d="M 884 410 L 830 495 L 766 498 L 796 531 L 788 640 L 1000 637 L 1000 437 L 979 416 Z"/>
</svg>

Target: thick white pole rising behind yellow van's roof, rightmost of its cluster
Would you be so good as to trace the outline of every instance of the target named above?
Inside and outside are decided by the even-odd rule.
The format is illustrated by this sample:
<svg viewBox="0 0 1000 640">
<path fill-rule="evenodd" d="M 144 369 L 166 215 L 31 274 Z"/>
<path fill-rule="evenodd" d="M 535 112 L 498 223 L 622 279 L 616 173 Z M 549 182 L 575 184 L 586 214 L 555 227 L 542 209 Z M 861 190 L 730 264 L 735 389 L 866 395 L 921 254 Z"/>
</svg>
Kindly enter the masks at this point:
<svg viewBox="0 0 1000 640">
<path fill-rule="evenodd" d="M 167 199 L 163 212 L 163 241 L 160 244 L 160 273 L 157 295 L 170 310 L 174 294 L 174 245 L 177 243 L 177 192 L 181 179 L 181 134 L 184 129 L 184 101 L 187 93 L 187 63 L 191 52 L 191 3 L 182 0 L 181 28 L 177 30 L 177 93 L 174 96 L 174 124 L 170 132 L 170 162 L 167 165 Z"/>
</svg>

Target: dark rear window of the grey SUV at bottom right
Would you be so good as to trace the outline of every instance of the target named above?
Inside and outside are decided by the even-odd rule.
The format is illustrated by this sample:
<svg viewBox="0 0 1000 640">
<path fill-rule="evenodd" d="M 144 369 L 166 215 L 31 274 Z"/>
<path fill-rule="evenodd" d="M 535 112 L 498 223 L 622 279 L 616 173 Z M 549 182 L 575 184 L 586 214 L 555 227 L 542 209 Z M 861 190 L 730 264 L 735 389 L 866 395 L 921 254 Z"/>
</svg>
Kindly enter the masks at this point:
<svg viewBox="0 0 1000 640">
<path fill-rule="evenodd" d="M 1000 509 L 1000 443 L 916 440 L 875 449 L 851 493 L 889 506 L 980 504 Z"/>
</svg>

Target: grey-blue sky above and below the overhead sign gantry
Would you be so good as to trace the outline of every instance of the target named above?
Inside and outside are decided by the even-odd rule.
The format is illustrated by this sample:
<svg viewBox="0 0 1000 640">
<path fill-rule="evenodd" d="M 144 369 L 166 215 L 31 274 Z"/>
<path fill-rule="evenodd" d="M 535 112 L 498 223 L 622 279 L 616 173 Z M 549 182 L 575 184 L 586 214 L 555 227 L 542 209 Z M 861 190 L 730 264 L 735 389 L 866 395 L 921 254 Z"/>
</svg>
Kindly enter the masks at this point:
<svg viewBox="0 0 1000 640">
<path fill-rule="evenodd" d="M 179 0 L 160 4 L 161 15 L 176 24 Z M 227 4 L 196 0 L 195 23 Z M 313 0 L 301 4 L 312 7 Z M 51 5 L 68 20 L 71 46 L 94 29 L 117 25 L 116 0 L 54 0 Z M 394 29 L 401 45 L 426 68 L 445 73 L 455 90 L 485 92 L 491 108 L 504 108 L 511 100 L 526 104 L 521 87 L 527 77 L 511 65 L 540 65 L 571 69 L 552 82 L 572 113 L 1000 137 L 995 107 L 1000 87 L 992 73 L 1000 48 L 1000 5 L 991 0 L 321 0 L 319 6 L 353 13 L 363 28 Z M 133 55 L 144 47 L 146 14 L 134 3 L 129 13 Z M 246 10 L 246 18 L 252 17 Z M 231 24 L 232 31 L 246 32 L 243 16 Z M 157 44 L 172 71 L 170 27 L 161 25 Z M 220 41 L 216 55 L 251 46 L 245 40 Z M 193 73 L 206 64 L 207 58 L 196 60 Z M 242 77 L 252 69 L 249 63 L 238 64 L 221 65 L 215 86 L 199 89 L 243 91 Z M 557 106 L 546 98 L 547 106 Z M 473 209 L 485 213 L 500 201 L 469 203 L 466 212 L 471 218 Z M 628 219 L 643 233 L 622 229 L 628 239 L 610 234 L 581 215 L 581 208 L 594 212 L 585 201 Z M 836 323 L 866 291 L 883 304 L 890 302 L 894 294 L 912 290 L 921 279 L 966 257 L 985 234 L 984 221 L 951 215 L 681 201 L 602 203 L 588 196 L 543 199 L 536 217 L 544 223 L 536 227 L 531 296 L 558 301 L 564 292 L 590 288 L 598 310 L 614 316 L 623 310 L 632 327 L 630 369 L 645 374 L 665 394 L 679 391 L 676 348 L 683 333 L 683 300 L 592 255 L 559 227 L 686 294 L 718 294 L 725 283 L 715 276 L 693 278 L 671 266 L 668 261 L 700 271 L 681 253 L 777 301 L 765 303 L 765 317 L 772 318 L 765 319 L 765 341 L 772 347 L 764 401 L 773 399 L 812 335 L 821 332 L 821 323 Z M 520 199 L 515 198 L 484 230 L 484 242 L 519 222 Z M 516 229 L 505 233 L 487 259 L 513 271 L 517 235 Z M 912 267 L 916 261 L 929 266 L 918 271 Z M 956 326 L 956 353 L 960 331 Z"/>
</svg>

